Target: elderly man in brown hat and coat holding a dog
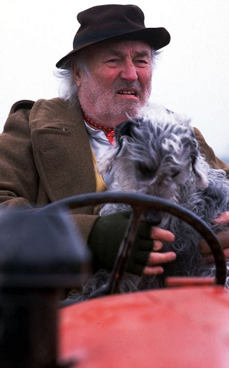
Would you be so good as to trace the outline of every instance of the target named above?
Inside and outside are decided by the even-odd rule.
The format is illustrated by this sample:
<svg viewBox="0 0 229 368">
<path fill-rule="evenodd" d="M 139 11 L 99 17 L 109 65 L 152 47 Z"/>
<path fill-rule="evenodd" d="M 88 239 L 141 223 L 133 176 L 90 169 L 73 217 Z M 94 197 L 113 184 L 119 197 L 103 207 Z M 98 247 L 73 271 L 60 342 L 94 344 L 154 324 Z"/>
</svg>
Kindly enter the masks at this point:
<svg viewBox="0 0 229 368">
<path fill-rule="evenodd" d="M 156 50 L 170 42 L 164 28 L 146 28 L 135 5 L 102 5 L 78 14 L 74 49 L 60 61 L 67 88 L 62 98 L 16 102 L 0 137 L 0 203 L 31 209 L 64 197 L 106 189 L 96 161 L 113 141 L 114 128 L 147 105 Z M 213 167 L 229 170 L 195 130 Z M 98 217 L 92 207 L 72 218 L 88 240 L 94 268 L 111 269 L 128 222 L 125 213 Z M 127 270 L 155 275 L 171 262 L 160 253 L 170 231 L 141 223 Z M 203 245 L 205 251 L 205 245 Z M 208 250 L 207 250 L 208 251 Z"/>
</svg>

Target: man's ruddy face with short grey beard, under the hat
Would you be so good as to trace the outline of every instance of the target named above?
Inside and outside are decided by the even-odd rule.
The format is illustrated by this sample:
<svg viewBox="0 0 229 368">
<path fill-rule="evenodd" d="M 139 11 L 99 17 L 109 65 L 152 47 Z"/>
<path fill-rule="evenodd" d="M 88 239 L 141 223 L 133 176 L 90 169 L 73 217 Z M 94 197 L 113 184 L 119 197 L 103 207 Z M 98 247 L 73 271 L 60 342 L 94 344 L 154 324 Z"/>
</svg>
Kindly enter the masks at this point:
<svg viewBox="0 0 229 368">
<path fill-rule="evenodd" d="M 86 51 L 89 73 L 74 68 L 78 98 L 95 122 L 114 127 L 136 116 L 151 93 L 152 53 L 143 41 L 107 41 Z"/>
</svg>

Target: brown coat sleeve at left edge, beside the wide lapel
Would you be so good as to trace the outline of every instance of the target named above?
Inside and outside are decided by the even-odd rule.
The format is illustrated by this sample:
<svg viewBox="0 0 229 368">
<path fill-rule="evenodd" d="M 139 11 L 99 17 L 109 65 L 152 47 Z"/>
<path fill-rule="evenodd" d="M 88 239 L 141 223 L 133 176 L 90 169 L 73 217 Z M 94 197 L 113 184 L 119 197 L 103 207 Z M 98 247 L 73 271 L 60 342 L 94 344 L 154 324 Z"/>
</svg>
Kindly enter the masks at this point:
<svg viewBox="0 0 229 368">
<path fill-rule="evenodd" d="M 30 109 L 22 107 L 12 106 L 0 134 L 0 206 L 33 208 L 39 180 L 28 125 Z"/>
</svg>

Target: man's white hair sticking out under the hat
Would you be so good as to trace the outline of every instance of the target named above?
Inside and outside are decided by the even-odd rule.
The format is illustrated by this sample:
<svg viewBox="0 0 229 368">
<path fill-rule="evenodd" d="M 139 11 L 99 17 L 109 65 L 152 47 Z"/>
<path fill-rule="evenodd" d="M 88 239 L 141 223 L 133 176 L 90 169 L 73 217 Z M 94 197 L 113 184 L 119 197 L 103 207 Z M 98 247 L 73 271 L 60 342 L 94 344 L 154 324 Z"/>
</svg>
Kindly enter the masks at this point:
<svg viewBox="0 0 229 368">
<path fill-rule="evenodd" d="M 86 49 L 87 47 L 79 50 L 77 52 L 77 56 L 73 59 L 72 64 L 67 61 L 63 65 L 61 65 L 61 69 L 57 69 L 54 71 L 54 75 L 59 80 L 58 94 L 59 97 L 64 101 L 69 101 L 71 104 L 75 104 L 77 101 L 77 91 L 78 86 L 73 76 L 73 64 L 76 65 L 76 68 L 83 70 L 86 74 L 90 74 L 89 68 L 86 62 Z M 153 48 L 152 51 L 152 67 L 155 64 L 155 60 L 161 51 L 155 51 Z"/>
</svg>

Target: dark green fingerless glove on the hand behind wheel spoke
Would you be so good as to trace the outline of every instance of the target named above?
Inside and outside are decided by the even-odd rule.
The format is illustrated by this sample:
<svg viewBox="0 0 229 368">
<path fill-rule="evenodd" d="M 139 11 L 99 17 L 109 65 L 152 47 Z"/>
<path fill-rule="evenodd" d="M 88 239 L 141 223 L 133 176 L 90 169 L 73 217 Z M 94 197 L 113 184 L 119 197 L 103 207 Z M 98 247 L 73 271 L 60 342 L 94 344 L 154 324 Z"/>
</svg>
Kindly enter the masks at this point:
<svg viewBox="0 0 229 368">
<path fill-rule="evenodd" d="M 118 212 L 99 217 L 89 236 L 89 247 L 93 253 L 94 271 L 100 268 L 111 271 L 118 248 L 127 228 L 131 212 Z M 151 226 L 140 223 L 133 250 L 127 261 L 126 271 L 141 275 L 153 249 L 150 238 Z"/>
</svg>

